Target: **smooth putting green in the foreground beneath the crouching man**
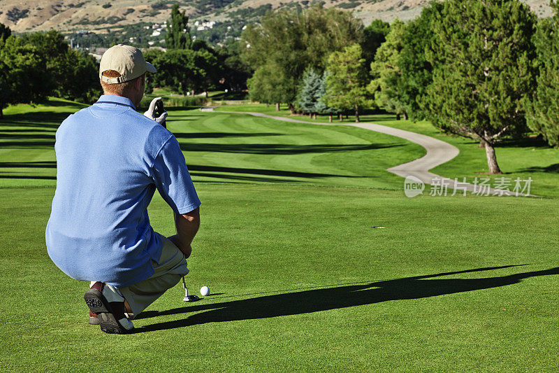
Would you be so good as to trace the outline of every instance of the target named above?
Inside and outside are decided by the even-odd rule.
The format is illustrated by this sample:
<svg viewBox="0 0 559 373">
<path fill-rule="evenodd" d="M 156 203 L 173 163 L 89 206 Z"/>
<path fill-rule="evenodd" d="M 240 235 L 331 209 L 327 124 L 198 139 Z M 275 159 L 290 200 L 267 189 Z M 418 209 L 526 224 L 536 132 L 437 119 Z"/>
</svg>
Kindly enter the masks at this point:
<svg viewBox="0 0 559 373">
<path fill-rule="evenodd" d="M 551 228 L 559 218 L 548 212 L 557 199 L 196 187 L 203 224 L 187 281 L 215 295 L 185 304 L 176 286 L 124 337 L 87 325 L 87 283 L 45 252 L 54 189 L 3 189 L 4 369 L 550 372 L 559 364 Z M 537 217 L 529 229 L 527 216 Z M 159 197 L 150 217 L 172 233 Z"/>
</svg>

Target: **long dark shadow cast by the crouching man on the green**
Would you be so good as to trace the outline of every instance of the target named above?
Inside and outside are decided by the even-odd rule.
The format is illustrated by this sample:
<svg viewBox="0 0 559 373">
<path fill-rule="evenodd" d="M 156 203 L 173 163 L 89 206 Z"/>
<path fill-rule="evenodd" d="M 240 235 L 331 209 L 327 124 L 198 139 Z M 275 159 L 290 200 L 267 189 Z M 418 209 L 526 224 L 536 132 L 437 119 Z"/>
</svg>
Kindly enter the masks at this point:
<svg viewBox="0 0 559 373">
<path fill-rule="evenodd" d="M 204 323 L 219 323 L 224 321 L 240 321 L 307 314 L 310 312 L 342 309 L 347 307 L 362 306 L 365 304 L 386 302 L 390 300 L 414 300 L 426 297 L 435 297 L 438 295 L 498 288 L 500 286 L 519 283 L 521 280 L 528 279 L 530 277 L 559 274 L 559 267 L 555 267 L 543 271 L 525 272 L 509 276 L 495 276 L 480 279 L 432 279 L 440 276 L 489 271 L 509 267 L 516 266 L 507 265 L 502 267 L 469 269 L 459 272 L 414 276 L 404 279 L 377 281 L 350 286 L 338 286 L 336 288 L 320 288 L 298 291 L 295 293 L 265 295 L 246 300 L 233 300 L 230 302 L 218 302 L 212 304 L 197 303 L 189 307 L 180 307 L 161 312 L 146 311 L 143 314 L 138 315 L 138 319 L 173 314 L 186 314 L 191 312 L 198 312 L 198 314 L 193 314 L 181 320 L 146 325 L 141 328 L 137 328 L 136 332 L 151 332 L 154 330 L 184 328 L 186 326 Z"/>
</svg>

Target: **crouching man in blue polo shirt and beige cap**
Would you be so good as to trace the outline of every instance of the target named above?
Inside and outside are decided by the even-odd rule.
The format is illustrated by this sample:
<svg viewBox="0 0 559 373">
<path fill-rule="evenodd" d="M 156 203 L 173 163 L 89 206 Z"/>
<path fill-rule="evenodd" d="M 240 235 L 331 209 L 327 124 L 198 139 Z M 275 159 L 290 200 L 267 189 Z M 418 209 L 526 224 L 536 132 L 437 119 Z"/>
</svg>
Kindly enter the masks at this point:
<svg viewBox="0 0 559 373">
<path fill-rule="evenodd" d="M 132 319 L 188 273 L 200 200 L 167 113 L 136 108 L 145 74 L 142 52 L 115 45 L 101 58 L 103 95 L 57 130 L 57 188 L 46 229 L 48 254 L 73 279 L 91 281 L 89 322 L 107 333 Z M 155 100 L 154 100 L 155 101 Z M 175 213 L 177 234 L 154 232 L 147 206 L 159 190 Z"/>
</svg>

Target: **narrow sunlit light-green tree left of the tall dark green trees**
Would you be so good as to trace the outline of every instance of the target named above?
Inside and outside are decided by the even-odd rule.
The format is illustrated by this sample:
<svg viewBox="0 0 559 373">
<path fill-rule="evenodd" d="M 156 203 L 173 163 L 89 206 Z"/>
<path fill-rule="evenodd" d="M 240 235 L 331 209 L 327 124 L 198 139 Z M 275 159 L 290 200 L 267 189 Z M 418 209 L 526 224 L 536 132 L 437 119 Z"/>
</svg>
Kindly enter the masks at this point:
<svg viewBox="0 0 559 373">
<path fill-rule="evenodd" d="M 404 47 L 402 43 L 404 28 L 403 22 L 394 20 L 386 41 L 377 49 L 375 60 L 370 64 L 373 79 L 367 86 L 367 90 L 375 97 L 375 104 L 379 108 L 395 113 L 398 119 L 400 114 L 407 119 L 407 108 L 400 99 L 400 92 L 396 90 L 402 75 L 398 67 L 398 59 Z"/>
</svg>

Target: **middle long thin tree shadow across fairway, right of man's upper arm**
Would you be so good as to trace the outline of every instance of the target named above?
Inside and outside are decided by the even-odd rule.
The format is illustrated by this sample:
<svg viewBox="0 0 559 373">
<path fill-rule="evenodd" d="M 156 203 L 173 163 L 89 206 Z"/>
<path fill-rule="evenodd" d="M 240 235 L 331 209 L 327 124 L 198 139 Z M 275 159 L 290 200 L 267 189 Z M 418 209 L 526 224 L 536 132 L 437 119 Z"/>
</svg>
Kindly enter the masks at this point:
<svg viewBox="0 0 559 373">
<path fill-rule="evenodd" d="M 374 150 L 394 148 L 402 144 L 353 144 L 353 145 L 291 145 L 281 143 L 180 143 L 188 152 L 247 153 L 293 155 L 304 153 L 334 153 L 347 150 Z"/>
</svg>

